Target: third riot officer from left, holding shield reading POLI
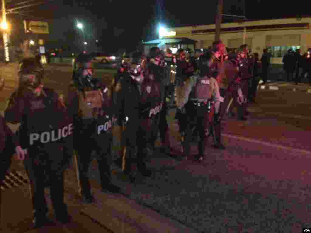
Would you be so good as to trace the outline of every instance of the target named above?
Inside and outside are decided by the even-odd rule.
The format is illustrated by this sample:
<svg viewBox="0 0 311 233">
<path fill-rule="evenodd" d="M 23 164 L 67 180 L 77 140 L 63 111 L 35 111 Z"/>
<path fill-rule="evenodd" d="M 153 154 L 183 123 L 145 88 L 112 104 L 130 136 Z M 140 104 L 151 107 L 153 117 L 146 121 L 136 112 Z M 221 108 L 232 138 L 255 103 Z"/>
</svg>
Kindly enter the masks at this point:
<svg viewBox="0 0 311 233">
<path fill-rule="evenodd" d="M 131 58 L 130 77 L 123 77 L 116 86 L 115 99 L 119 106 L 118 116 L 122 117 L 126 129 L 122 134 L 122 141 L 126 144 L 124 172 L 131 182 L 131 158 L 137 146 L 137 169 L 143 176 L 151 176 L 146 167 L 148 144 L 153 145 L 159 132 L 160 109 L 162 108 L 161 81 L 156 81 L 146 68 L 146 58 L 142 53 L 133 53 Z M 121 90 L 121 91 L 120 91 Z M 118 94 L 119 93 L 119 94 Z M 131 95 L 131 97 L 129 96 Z M 122 103 L 123 102 L 123 103 Z M 138 111 L 137 111 L 138 110 Z M 133 135 L 137 133 L 137 138 Z"/>
</svg>

